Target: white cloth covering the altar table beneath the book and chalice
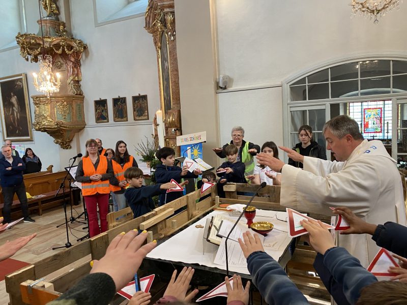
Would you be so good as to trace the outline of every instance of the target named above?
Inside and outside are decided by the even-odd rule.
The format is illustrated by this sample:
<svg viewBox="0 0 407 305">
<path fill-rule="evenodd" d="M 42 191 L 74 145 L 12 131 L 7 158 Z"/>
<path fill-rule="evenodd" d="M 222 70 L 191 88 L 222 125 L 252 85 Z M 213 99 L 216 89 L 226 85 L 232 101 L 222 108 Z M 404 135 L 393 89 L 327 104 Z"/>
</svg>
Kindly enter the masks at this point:
<svg viewBox="0 0 407 305">
<path fill-rule="evenodd" d="M 279 222 L 276 218 L 265 217 L 267 215 L 275 216 L 276 211 L 267 211 L 267 210 L 257 210 L 261 217 L 254 219 L 255 221 L 269 221 L 275 225 Z M 285 213 L 285 212 L 284 212 Z M 205 253 L 203 253 L 203 229 L 196 228 L 196 225 L 201 225 L 205 227 L 206 220 L 215 215 L 222 214 L 225 216 L 229 215 L 229 212 L 224 211 L 213 211 L 206 217 L 203 217 L 196 223 L 192 224 L 185 230 L 180 233 L 172 236 L 165 242 L 158 245 L 153 251 L 151 251 L 147 257 L 170 260 L 170 261 L 179 261 L 189 264 L 200 264 L 208 267 L 216 267 L 222 270 L 226 270 L 225 265 L 217 265 L 214 263 L 216 253 L 219 249 L 219 246 L 213 245 L 212 243 L 205 243 Z M 286 213 L 285 213 L 286 215 Z M 237 219 L 237 218 L 235 218 Z M 285 218 L 284 218 L 285 220 Z M 246 223 L 246 219 L 242 220 L 243 223 Z M 282 222 L 287 228 L 287 223 Z M 251 231 L 253 232 L 253 231 Z M 284 253 L 285 249 L 291 242 L 292 238 L 288 236 L 286 232 L 279 230 L 272 230 L 264 239 L 263 247 L 265 248 L 266 253 L 271 255 L 275 260 L 279 260 L 281 255 Z M 248 275 L 249 271 L 247 267 L 238 267 L 230 266 L 229 270 L 231 272 L 240 272 Z"/>
</svg>

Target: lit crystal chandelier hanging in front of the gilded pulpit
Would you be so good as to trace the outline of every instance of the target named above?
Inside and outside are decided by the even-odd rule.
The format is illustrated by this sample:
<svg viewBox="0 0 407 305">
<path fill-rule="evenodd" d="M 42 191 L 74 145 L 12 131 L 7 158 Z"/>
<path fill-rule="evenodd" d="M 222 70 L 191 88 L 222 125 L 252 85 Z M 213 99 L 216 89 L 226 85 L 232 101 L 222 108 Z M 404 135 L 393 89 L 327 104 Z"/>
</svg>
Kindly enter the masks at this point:
<svg viewBox="0 0 407 305">
<path fill-rule="evenodd" d="M 37 91 L 44 93 L 48 97 L 60 90 L 60 74 L 56 73 L 56 82 L 52 73 L 51 55 L 38 55 L 40 72 L 33 73 L 34 86 Z"/>
</svg>

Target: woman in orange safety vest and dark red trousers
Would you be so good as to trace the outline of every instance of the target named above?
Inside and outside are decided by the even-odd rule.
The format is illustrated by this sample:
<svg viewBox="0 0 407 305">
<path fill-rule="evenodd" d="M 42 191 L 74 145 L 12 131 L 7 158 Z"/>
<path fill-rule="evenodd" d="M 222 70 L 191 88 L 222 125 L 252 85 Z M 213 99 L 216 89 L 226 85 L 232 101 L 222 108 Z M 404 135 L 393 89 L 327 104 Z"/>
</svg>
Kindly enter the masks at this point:
<svg viewBox="0 0 407 305">
<path fill-rule="evenodd" d="M 93 237 L 107 231 L 109 179 L 113 176 L 113 169 L 105 156 L 99 156 L 96 140 L 86 141 L 85 146 L 86 154 L 78 164 L 75 180 L 82 183 L 82 195 L 88 210 L 89 235 Z"/>
</svg>

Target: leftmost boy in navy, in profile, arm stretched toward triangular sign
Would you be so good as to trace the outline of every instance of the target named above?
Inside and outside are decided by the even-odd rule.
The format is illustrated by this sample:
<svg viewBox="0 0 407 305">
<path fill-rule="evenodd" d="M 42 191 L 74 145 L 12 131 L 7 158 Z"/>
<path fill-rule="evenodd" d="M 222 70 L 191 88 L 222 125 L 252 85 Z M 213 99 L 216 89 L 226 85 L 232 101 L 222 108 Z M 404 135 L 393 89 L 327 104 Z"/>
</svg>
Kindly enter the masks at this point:
<svg viewBox="0 0 407 305">
<path fill-rule="evenodd" d="M 124 196 L 133 211 L 133 218 L 151 212 L 155 206 L 151 197 L 163 194 L 166 190 L 176 188 L 173 183 L 143 186 L 143 171 L 138 167 L 130 167 L 125 170 L 124 177 L 129 184 Z"/>
</svg>

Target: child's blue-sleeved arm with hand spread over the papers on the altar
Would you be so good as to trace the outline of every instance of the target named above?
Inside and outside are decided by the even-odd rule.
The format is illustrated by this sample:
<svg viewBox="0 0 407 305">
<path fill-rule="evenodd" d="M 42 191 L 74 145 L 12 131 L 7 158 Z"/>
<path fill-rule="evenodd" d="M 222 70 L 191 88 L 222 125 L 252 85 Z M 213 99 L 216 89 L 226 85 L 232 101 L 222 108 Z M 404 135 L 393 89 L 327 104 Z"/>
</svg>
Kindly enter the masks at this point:
<svg viewBox="0 0 407 305">
<path fill-rule="evenodd" d="M 283 268 L 264 252 L 258 236 L 253 238 L 253 235 L 245 232 L 243 240 L 239 238 L 239 244 L 247 258 L 247 268 L 253 284 L 268 304 L 309 304 Z"/>
</svg>

